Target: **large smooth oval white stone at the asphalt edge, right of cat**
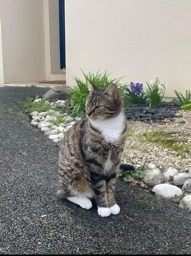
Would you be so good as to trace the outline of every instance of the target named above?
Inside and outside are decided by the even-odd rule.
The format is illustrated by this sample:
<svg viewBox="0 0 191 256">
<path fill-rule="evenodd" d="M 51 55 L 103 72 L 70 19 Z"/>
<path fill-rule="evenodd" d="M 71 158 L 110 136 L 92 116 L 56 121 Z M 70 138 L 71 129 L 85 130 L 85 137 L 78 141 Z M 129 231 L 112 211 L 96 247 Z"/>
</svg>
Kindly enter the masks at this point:
<svg viewBox="0 0 191 256">
<path fill-rule="evenodd" d="M 171 202 L 180 202 L 183 197 L 182 191 L 180 188 L 170 184 L 158 184 L 152 189 L 157 196 L 161 196 Z"/>
</svg>

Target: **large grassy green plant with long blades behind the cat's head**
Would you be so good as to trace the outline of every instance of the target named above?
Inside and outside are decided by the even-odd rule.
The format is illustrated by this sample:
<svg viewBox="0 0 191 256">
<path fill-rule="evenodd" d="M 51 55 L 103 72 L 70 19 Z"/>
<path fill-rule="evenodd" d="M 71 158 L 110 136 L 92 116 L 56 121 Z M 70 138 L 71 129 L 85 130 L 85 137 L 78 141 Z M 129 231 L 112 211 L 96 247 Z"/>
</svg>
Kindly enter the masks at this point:
<svg viewBox="0 0 191 256">
<path fill-rule="evenodd" d="M 107 70 L 103 73 L 98 71 L 95 75 L 90 72 L 88 74 L 83 72 L 83 75 L 85 77 L 85 82 L 75 76 L 74 80 L 76 85 L 71 91 L 67 92 L 72 103 L 69 109 L 72 110 L 73 116 L 80 116 L 81 118 L 84 118 L 85 116 L 85 103 L 90 93 L 88 89 L 88 80 L 93 82 L 97 87 L 102 88 L 107 88 L 111 83 L 115 83 L 118 86 L 119 93 L 123 95 L 124 86 L 120 84 L 120 79 L 122 77 L 110 79 L 110 74 L 107 72 Z"/>
</svg>

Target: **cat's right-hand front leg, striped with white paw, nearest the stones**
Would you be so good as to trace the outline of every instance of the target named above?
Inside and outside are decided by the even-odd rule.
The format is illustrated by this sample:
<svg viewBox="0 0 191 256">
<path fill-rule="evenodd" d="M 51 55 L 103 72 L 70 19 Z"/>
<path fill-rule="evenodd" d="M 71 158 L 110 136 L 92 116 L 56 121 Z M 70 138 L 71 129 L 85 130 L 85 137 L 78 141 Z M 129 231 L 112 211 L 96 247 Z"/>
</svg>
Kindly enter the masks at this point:
<svg viewBox="0 0 191 256">
<path fill-rule="evenodd" d="M 108 177 L 107 184 L 106 184 L 106 191 L 107 191 L 107 199 L 108 199 L 108 205 L 109 209 L 111 211 L 111 214 L 118 214 L 120 212 L 120 207 L 118 204 L 116 204 L 115 200 L 115 188 L 116 188 L 116 177 L 117 172 L 116 170 L 113 170 L 114 172 L 112 175 Z"/>
</svg>

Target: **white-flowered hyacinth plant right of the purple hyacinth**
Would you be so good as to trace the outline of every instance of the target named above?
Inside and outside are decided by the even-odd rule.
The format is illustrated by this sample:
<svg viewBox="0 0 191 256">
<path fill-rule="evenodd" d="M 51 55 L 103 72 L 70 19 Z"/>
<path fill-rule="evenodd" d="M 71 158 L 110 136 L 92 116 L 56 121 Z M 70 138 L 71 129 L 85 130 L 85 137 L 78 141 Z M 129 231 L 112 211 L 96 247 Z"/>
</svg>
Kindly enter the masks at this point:
<svg viewBox="0 0 191 256">
<path fill-rule="evenodd" d="M 160 84 L 160 78 L 158 76 L 155 81 L 150 81 L 150 85 L 147 81 L 146 83 L 148 85 L 147 96 L 150 101 L 150 105 L 153 107 L 160 105 L 165 94 L 165 85 Z"/>
</svg>

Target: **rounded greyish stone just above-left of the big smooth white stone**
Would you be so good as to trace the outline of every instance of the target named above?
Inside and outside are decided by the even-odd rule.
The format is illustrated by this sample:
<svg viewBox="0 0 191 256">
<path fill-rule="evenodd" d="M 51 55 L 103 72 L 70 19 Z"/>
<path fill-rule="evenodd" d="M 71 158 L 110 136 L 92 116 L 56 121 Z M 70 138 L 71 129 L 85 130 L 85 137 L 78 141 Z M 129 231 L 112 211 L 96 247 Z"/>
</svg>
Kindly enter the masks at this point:
<svg viewBox="0 0 191 256">
<path fill-rule="evenodd" d="M 159 168 L 149 169 L 145 172 L 145 176 L 142 178 L 142 181 L 145 184 L 154 187 L 158 184 L 164 183 L 164 176 Z"/>
</svg>

